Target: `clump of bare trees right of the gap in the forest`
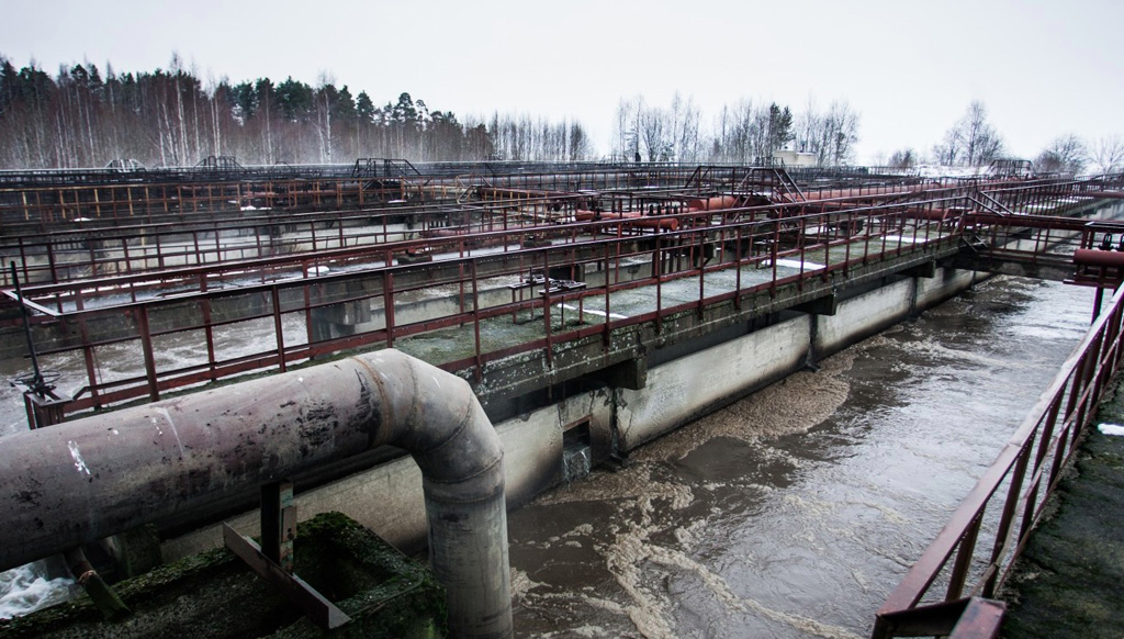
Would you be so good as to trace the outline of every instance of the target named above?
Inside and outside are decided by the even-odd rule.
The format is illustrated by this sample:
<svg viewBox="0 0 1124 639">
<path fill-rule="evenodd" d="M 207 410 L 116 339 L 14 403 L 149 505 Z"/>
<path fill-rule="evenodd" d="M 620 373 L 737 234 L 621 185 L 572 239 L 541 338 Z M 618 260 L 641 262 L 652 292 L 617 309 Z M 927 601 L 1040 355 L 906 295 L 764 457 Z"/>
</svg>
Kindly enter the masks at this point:
<svg viewBox="0 0 1124 639">
<path fill-rule="evenodd" d="M 859 114 L 846 100 L 826 109 L 809 101 L 799 112 L 777 102 L 743 99 L 723 106 L 708 127 L 694 99 L 668 107 L 642 96 L 617 107 L 614 154 L 645 161 L 759 163 L 781 150 L 808 153 L 818 166 L 854 161 Z"/>
</svg>

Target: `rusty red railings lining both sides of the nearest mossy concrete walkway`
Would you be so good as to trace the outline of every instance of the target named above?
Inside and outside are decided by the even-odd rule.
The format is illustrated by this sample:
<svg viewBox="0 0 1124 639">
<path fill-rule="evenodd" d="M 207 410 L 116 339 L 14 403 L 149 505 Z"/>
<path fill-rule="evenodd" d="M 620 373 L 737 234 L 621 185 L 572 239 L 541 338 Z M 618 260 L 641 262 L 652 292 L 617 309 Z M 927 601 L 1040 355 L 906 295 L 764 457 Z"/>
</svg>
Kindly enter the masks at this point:
<svg viewBox="0 0 1124 639">
<path fill-rule="evenodd" d="M 559 343 L 598 334 L 604 336 L 608 348 L 608 335 L 619 327 L 652 322 L 660 330 L 672 315 L 703 313 L 707 306 L 731 300 L 737 306 L 746 296 L 759 292 L 773 297 L 782 287 L 791 285 L 798 290 L 830 288 L 833 274 L 846 276 L 852 269 L 877 266 L 883 260 L 910 255 L 933 260 L 937 256 L 935 251 L 953 251 L 958 246 L 954 227 L 910 212 L 941 208 L 946 204 L 933 200 L 912 202 L 908 207 L 894 205 L 805 215 L 798 214 L 803 205 L 791 205 L 794 214 L 778 219 L 765 217 L 769 207 L 681 214 L 671 216 L 680 220 L 679 230 L 646 235 L 626 235 L 625 224 L 605 220 L 581 225 L 580 233 L 577 228 L 563 227 L 560 233 L 566 236 L 560 237 L 559 244 L 541 249 L 471 251 L 463 248 L 464 238 L 448 238 L 444 242 L 454 255 L 427 264 L 380 266 L 316 278 L 308 277 L 306 268 L 303 277 L 298 270 L 296 277 L 289 279 L 259 279 L 257 284 L 243 281 L 238 286 L 226 279 L 221 269 L 188 269 L 180 282 L 193 287 L 193 291 L 170 289 L 156 297 L 152 296 L 152 289 L 145 288 L 152 282 L 152 276 L 137 274 L 117 278 L 116 282 L 127 281 L 136 290 L 147 290 L 147 299 L 134 297 L 130 289 L 117 288 L 117 295 L 125 296 L 124 303 L 109 306 L 100 306 L 105 299 L 98 297 L 100 285 L 97 281 L 29 287 L 25 296 L 38 305 L 37 310 L 47 315 L 48 322 L 63 323 L 76 338 L 73 344 L 44 344 L 46 348 L 40 351 L 45 360 L 55 356 L 73 357 L 67 354 L 73 353 L 85 362 L 88 382 L 74 402 L 67 404 L 69 413 L 138 397 L 157 398 L 176 388 L 254 370 L 284 370 L 293 363 L 341 350 L 392 346 L 425 333 L 465 325 L 473 325 L 474 332 L 468 338 L 466 352 L 459 349 L 463 354 L 438 353 L 432 363 L 447 370 L 475 369 L 479 377 L 483 364 L 511 354 L 541 349 L 551 359 Z M 862 231 L 855 232 L 859 228 Z M 473 237 L 483 240 L 490 235 L 483 233 Z M 496 232 L 495 235 L 502 237 L 506 234 Z M 464 256 L 455 256 L 457 246 Z M 377 255 L 379 251 L 381 249 L 375 250 Z M 713 258 L 707 258 L 708 252 Z M 781 269 L 783 260 L 798 264 L 795 272 Z M 387 262 L 389 259 L 383 264 Z M 629 274 L 637 264 L 642 272 Z M 237 271 L 239 266 L 228 268 Z M 762 278 L 763 281 L 746 281 L 750 268 L 768 277 Z M 545 295 L 534 289 L 531 299 L 515 299 L 514 296 L 511 302 L 502 303 L 495 297 L 491 302 L 480 299 L 481 290 L 517 285 L 533 270 L 551 273 L 553 278 L 562 277 L 554 274 L 558 269 L 568 272 L 600 270 L 605 276 L 596 286 L 583 289 L 546 291 Z M 252 271 L 256 273 L 257 270 Z M 707 284 L 708 277 L 722 271 L 733 271 L 728 278 L 732 286 L 716 288 Z M 273 277 L 278 276 L 280 272 Z M 243 277 L 256 279 L 256 274 L 245 272 Z M 685 288 L 685 281 L 694 287 L 694 294 L 686 299 L 683 295 L 689 288 Z M 157 282 L 158 286 L 165 284 Z M 216 290 L 217 284 L 226 284 L 227 288 Z M 425 299 L 435 287 L 451 290 L 448 297 L 456 302 L 434 315 L 408 316 L 414 299 Z M 669 287 L 676 288 L 673 300 L 667 295 Z M 619 313 L 615 313 L 618 302 L 613 302 L 613 297 L 637 289 L 654 300 L 654 308 L 618 317 Z M 238 298 L 237 305 L 225 304 L 234 298 Z M 314 314 L 335 312 L 350 303 L 375 309 L 381 313 L 380 321 L 368 323 L 361 332 L 351 335 L 317 338 L 311 334 L 308 326 L 312 324 Z M 578 313 L 590 304 L 602 305 L 605 315 L 578 326 L 563 324 L 559 322 L 559 310 L 553 308 L 559 304 L 577 305 Z M 230 310 L 234 307 L 238 310 Z M 561 314 L 564 313 L 563 308 Z M 479 334 L 482 322 L 515 315 L 533 315 L 540 328 L 523 331 L 525 341 L 520 343 L 499 348 L 482 343 Z M 123 325 L 123 317 L 125 328 L 116 333 L 103 331 L 107 323 Z M 587 314 L 586 317 L 593 316 Z M 301 322 L 308 325 L 310 334 L 307 339 L 294 339 L 292 326 Z M 219 334 L 250 323 L 261 324 L 256 330 L 272 334 L 273 340 L 232 352 Z M 290 326 L 288 333 L 285 326 Z M 160 364 L 162 350 L 170 348 L 178 335 L 198 342 L 192 363 Z M 143 354 L 143 371 L 103 374 L 102 354 L 115 350 Z"/>
</svg>

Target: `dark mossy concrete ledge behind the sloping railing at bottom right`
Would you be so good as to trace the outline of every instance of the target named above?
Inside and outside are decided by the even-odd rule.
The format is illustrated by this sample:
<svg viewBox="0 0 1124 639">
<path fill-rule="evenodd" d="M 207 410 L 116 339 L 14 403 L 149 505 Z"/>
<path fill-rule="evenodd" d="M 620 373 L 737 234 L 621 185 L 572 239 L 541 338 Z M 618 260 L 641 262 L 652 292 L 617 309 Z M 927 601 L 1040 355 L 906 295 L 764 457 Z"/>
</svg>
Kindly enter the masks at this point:
<svg viewBox="0 0 1124 639">
<path fill-rule="evenodd" d="M 1102 405 L 1076 469 L 1054 497 L 1004 588 L 1008 639 L 1118 639 L 1124 636 L 1124 436 L 1096 424 L 1124 424 L 1124 382 Z"/>
</svg>

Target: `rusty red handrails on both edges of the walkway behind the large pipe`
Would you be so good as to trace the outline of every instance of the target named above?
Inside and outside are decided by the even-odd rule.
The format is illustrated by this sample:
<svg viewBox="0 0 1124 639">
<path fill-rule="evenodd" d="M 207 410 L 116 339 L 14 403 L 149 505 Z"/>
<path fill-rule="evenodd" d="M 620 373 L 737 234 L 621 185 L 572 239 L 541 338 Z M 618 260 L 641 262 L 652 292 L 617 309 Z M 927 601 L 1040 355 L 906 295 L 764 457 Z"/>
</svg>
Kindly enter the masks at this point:
<svg viewBox="0 0 1124 639">
<path fill-rule="evenodd" d="M 326 354 L 361 345 L 378 346 L 383 344 L 391 346 L 396 340 L 402 340 L 419 333 L 463 324 L 479 325 L 479 322 L 484 320 L 500 316 L 511 316 L 515 313 L 527 312 L 528 309 L 536 312 L 535 315 L 538 315 L 543 322 L 542 339 L 528 340 L 526 343 L 507 346 L 499 351 L 490 351 L 482 348 L 478 342 L 473 349 L 474 354 L 468 360 L 434 362 L 441 363 L 442 368 L 446 368 L 448 370 L 475 368 L 479 371 L 483 363 L 517 352 L 545 349 L 546 357 L 550 358 L 551 343 L 581 340 L 591 334 L 607 333 L 615 328 L 636 323 L 659 323 L 665 317 L 682 313 L 687 309 L 701 309 L 707 305 L 723 303 L 732 298 L 741 298 L 745 295 L 756 292 L 777 295 L 779 287 L 794 284 L 801 290 L 810 290 L 809 287 L 826 286 L 824 281 L 828 279 L 831 273 L 845 273 L 847 269 L 858 268 L 867 262 L 877 263 L 880 259 L 879 256 L 894 259 L 916 253 L 918 258 L 927 255 L 925 259 L 933 259 L 933 251 L 936 246 L 954 250 L 954 237 L 951 230 L 946 230 L 946 232 L 942 233 L 940 236 L 934 235 L 931 237 L 922 226 L 918 226 L 918 223 L 924 225 L 924 227 L 932 226 L 934 228 L 936 227 L 936 223 L 908 218 L 901 210 L 901 207 L 896 207 L 890 210 L 872 207 L 868 209 L 847 212 L 816 213 L 785 219 L 768 219 L 762 218 L 762 216 L 752 220 L 742 220 L 740 216 L 745 214 L 745 212 L 752 213 L 752 209 L 728 209 L 715 212 L 704 217 L 711 217 L 719 220 L 716 225 L 701 224 L 695 227 L 687 227 L 687 224 L 683 223 L 683 227 L 679 231 L 664 232 L 656 235 L 622 234 L 620 228 L 624 225 L 616 220 L 606 220 L 593 223 L 591 225 L 574 225 L 575 227 L 571 231 L 572 233 L 577 233 L 579 228 L 581 228 L 584 234 L 588 234 L 589 226 L 595 226 L 595 232 L 600 228 L 602 233 L 613 232 L 614 235 L 583 241 L 577 241 L 579 237 L 574 236 L 571 237 L 568 243 L 562 245 L 542 249 L 515 249 L 505 253 L 505 259 L 508 260 L 510 266 L 504 267 L 501 270 L 495 270 L 495 266 L 497 263 L 497 255 L 495 253 L 442 260 L 441 262 L 435 262 L 433 266 L 439 263 L 443 267 L 441 272 L 450 274 L 442 278 L 439 281 L 425 280 L 419 284 L 407 284 L 411 280 L 405 276 L 416 273 L 419 269 L 423 269 L 423 267 L 390 266 L 380 267 L 364 272 L 362 277 L 373 282 L 373 285 L 371 285 L 373 288 L 359 286 L 353 292 L 348 292 L 351 289 L 338 288 L 337 285 L 346 284 L 350 278 L 356 277 L 355 273 L 333 273 L 317 278 L 299 278 L 294 280 L 262 282 L 257 285 L 246 284 L 243 287 L 227 288 L 223 290 L 209 289 L 206 292 L 187 292 L 174 297 L 156 298 L 146 302 L 132 302 L 117 306 L 87 308 L 84 310 L 70 310 L 65 314 L 64 321 L 67 325 L 79 326 L 80 330 L 83 331 L 83 334 L 85 331 L 84 326 L 98 325 L 101 318 L 111 318 L 114 316 L 119 316 L 123 313 L 136 318 L 138 332 L 130 332 L 130 334 L 119 338 L 107 336 L 100 339 L 100 341 L 87 341 L 83 339 L 83 343 L 81 345 L 63 346 L 62 349 L 44 349 L 44 352 L 46 354 L 52 354 L 80 350 L 84 353 L 84 359 L 87 359 L 89 364 L 88 368 L 92 371 L 94 366 L 92 362 L 96 360 L 93 350 L 114 343 L 137 343 L 137 341 L 139 341 L 143 349 L 151 351 L 153 348 L 153 338 L 170 335 L 176 332 L 210 331 L 211 327 L 218 327 L 224 324 L 265 320 L 269 317 L 272 317 L 274 325 L 279 327 L 277 331 L 278 340 L 275 348 L 271 349 L 269 345 L 265 345 L 264 350 L 235 357 L 233 359 L 221 358 L 216 354 L 208 354 L 207 361 L 202 361 L 198 364 L 191 364 L 179 370 L 157 370 L 153 358 L 148 352 L 146 352 L 146 370 L 142 374 L 142 376 L 129 377 L 128 379 L 116 379 L 111 381 L 97 381 L 91 377 L 87 389 L 80 394 L 82 397 L 67 407 L 67 412 L 72 412 L 96 406 L 106 406 L 119 400 L 145 395 L 155 398 L 163 392 L 220 378 L 225 375 L 236 375 L 270 367 L 279 367 L 281 370 L 284 370 L 287 366 L 291 366 L 298 361 L 307 360 L 308 358 L 318 354 Z M 679 216 L 663 217 L 674 217 L 677 219 L 686 220 L 690 219 L 691 215 L 680 214 Z M 863 224 L 856 224 L 855 222 L 859 219 L 862 219 Z M 616 227 L 615 231 L 614 227 Z M 844 235 L 844 233 L 846 233 L 844 230 L 860 227 L 864 228 L 863 233 L 853 236 Z M 912 242 L 890 240 L 887 235 L 888 233 L 892 233 L 895 235 L 908 235 L 912 233 Z M 496 232 L 496 235 L 502 236 L 505 233 Z M 767 242 L 769 238 L 777 236 L 788 236 L 795 240 L 796 243 L 791 244 L 790 240 L 790 244 L 782 248 L 777 242 Z M 761 284 L 740 284 L 736 291 L 719 292 L 718 295 L 715 295 L 714 292 L 706 292 L 703 287 L 699 287 L 698 299 L 687 302 L 685 304 L 677 304 L 674 306 L 658 302 L 658 308 L 652 313 L 644 313 L 643 315 L 636 315 L 628 318 L 606 317 L 604 323 L 590 323 L 577 328 L 572 326 L 562 326 L 561 330 L 555 328 L 552 331 L 551 324 L 553 322 L 550 318 L 549 307 L 551 303 L 560 303 L 563 300 L 551 296 L 546 299 L 529 299 L 495 306 L 480 306 L 475 302 L 463 303 L 459 312 L 454 310 L 451 314 L 444 314 L 441 317 L 425 318 L 422 321 L 414 321 L 413 323 L 396 324 L 392 315 L 388 313 L 383 327 L 371 328 L 363 333 L 335 338 L 326 341 L 312 342 L 309 340 L 308 343 L 300 344 L 285 344 L 280 331 L 282 316 L 309 313 L 317 308 L 342 303 L 370 299 L 377 307 L 393 309 L 396 305 L 400 305 L 400 303 L 395 302 L 395 296 L 401 296 L 402 294 L 408 294 L 411 290 L 423 290 L 426 288 L 433 288 L 437 285 L 448 285 L 453 287 L 459 286 L 463 290 L 475 291 L 479 289 L 480 280 L 518 274 L 520 272 L 520 267 L 518 267 L 518 264 L 537 268 L 540 266 L 547 266 L 549 263 L 562 264 L 573 262 L 574 258 L 572 251 L 575 250 L 587 251 L 587 256 L 581 258 L 581 260 L 590 263 L 602 261 L 608 263 L 609 268 L 616 271 L 626 268 L 627 261 L 631 258 L 651 260 L 653 255 L 651 245 L 636 244 L 636 240 L 643 237 L 647 237 L 649 240 L 655 238 L 658 242 L 655 252 L 660 255 L 660 258 L 655 261 L 655 263 L 662 263 L 667 260 L 670 264 L 672 261 L 682 259 L 687 262 L 687 268 L 679 267 L 667 271 L 661 270 L 655 274 L 650 274 L 634 280 L 619 279 L 618 276 L 618 279 L 610 280 L 604 286 L 599 285 L 588 290 L 568 294 L 565 302 L 580 303 L 580 300 L 588 298 L 593 298 L 595 300 L 605 298 L 608 300 L 608 298 L 617 291 L 642 286 L 653 287 L 655 289 L 656 299 L 659 300 L 662 288 L 670 286 L 671 282 L 683 278 L 703 278 L 705 273 L 720 269 L 734 269 L 741 272 L 741 269 L 745 267 L 765 268 L 768 264 L 773 277 L 771 277 L 769 281 Z M 682 258 L 685 252 L 689 253 L 691 251 L 695 251 L 695 256 L 698 256 L 701 253 L 701 246 L 704 244 L 722 241 L 723 238 L 741 241 L 746 246 L 751 245 L 754 241 L 759 241 L 762 244 L 769 244 L 769 246 L 765 252 L 759 252 L 756 254 L 747 252 L 746 254 L 738 254 L 736 258 L 729 258 L 728 260 L 732 261 L 722 261 L 715 264 L 704 263 L 703 266 L 698 266 L 696 263 L 692 266 L 692 256 Z M 450 242 L 455 244 L 457 242 L 463 242 L 463 240 L 456 238 L 450 240 Z M 832 261 L 826 260 L 833 249 L 841 249 L 844 245 L 847 252 L 846 259 L 840 260 L 836 258 Z M 854 246 L 853 249 L 852 245 Z M 825 262 L 825 268 L 801 268 L 798 273 L 788 276 L 778 273 L 777 263 L 780 259 L 786 258 L 799 260 L 801 263 L 805 261 L 823 261 Z M 478 274 L 478 266 L 489 263 L 492 263 L 493 270 L 487 274 Z M 500 262 L 500 266 L 502 264 L 504 263 Z M 432 266 L 427 266 L 426 269 L 432 269 Z M 461 274 L 452 274 L 455 272 L 460 272 Z M 133 276 L 133 278 L 139 277 L 140 276 Z M 741 276 L 737 277 L 741 278 Z M 42 287 L 40 290 L 58 290 L 61 288 L 71 288 L 72 286 L 78 285 L 55 285 L 53 287 Z M 75 297 L 81 295 L 79 289 L 73 289 L 73 291 Z M 211 320 L 205 320 L 202 323 L 196 321 L 191 322 L 190 325 L 148 325 L 147 318 L 149 316 L 154 318 L 161 317 L 160 314 L 162 309 L 174 306 L 190 305 L 191 308 L 199 308 L 199 313 L 206 314 L 209 313 L 209 310 L 203 310 L 205 308 L 210 308 L 211 305 L 216 304 L 221 298 L 233 296 L 256 296 L 255 299 L 262 300 L 259 303 L 260 309 L 245 314 L 238 313 L 237 316 L 227 320 L 214 317 Z M 305 302 L 298 302 L 300 298 L 303 298 Z M 606 304 L 606 308 L 608 308 L 608 304 Z M 210 350 L 211 348 L 208 346 L 208 349 Z"/>
</svg>

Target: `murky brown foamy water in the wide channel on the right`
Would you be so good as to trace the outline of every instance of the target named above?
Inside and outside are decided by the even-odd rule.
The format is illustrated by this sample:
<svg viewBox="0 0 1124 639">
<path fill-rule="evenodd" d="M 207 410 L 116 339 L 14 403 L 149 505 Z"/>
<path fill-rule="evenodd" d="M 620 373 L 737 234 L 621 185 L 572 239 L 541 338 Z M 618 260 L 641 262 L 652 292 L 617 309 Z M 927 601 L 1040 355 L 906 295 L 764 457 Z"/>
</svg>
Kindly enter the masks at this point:
<svg viewBox="0 0 1124 639">
<path fill-rule="evenodd" d="M 1088 327 L 997 278 L 511 513 L 523 637 L 865 637 Z"/>
</svg>

